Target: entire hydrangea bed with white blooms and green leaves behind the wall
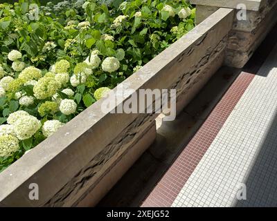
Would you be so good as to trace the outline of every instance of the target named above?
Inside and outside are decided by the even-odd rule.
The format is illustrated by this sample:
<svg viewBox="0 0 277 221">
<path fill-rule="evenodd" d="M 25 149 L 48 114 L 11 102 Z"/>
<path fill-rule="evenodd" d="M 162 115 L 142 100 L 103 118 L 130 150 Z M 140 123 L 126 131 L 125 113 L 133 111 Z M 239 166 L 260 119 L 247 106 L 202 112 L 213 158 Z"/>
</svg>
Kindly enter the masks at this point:
<svg viewBox="0 0 277 221">
<path fill-rule="evenodd" d="M 0 171 L 194 27 L 185 1 L 0 4 Z"/>
</svg>

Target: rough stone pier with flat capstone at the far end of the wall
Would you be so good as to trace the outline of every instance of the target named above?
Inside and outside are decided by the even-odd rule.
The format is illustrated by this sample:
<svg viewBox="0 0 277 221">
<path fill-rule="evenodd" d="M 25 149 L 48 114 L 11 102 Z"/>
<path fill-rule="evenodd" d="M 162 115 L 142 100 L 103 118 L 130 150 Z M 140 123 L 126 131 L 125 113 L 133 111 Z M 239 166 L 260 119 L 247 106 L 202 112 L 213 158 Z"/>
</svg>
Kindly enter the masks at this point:
<svg viewBox="0 0 277 221">
<path fill-rule="evenodd" d="M 220 7 L 234 8 L 233 28 L 229 33 L 225 64 L 242 68 L 249 61 L 267 33 L 277 22 L 276 0 L 190 0 L 197 5 L 197 23 L 211 15 Z M 238 4 L 247 7 L 247 19 L 238 20 Z"/>
</svg>

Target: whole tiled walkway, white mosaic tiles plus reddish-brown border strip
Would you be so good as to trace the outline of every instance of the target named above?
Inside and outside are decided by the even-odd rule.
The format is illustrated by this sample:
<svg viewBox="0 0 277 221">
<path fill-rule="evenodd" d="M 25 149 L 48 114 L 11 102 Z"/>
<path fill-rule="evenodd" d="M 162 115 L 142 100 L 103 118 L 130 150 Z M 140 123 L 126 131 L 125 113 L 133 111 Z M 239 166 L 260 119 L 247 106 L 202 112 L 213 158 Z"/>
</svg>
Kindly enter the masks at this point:
<svg viewBox="0 0 277 221">
<path fill-rule="evenodd" d="M 276 67 L 240 74 L 142 206 L 277 206 Z"/>
</svg>

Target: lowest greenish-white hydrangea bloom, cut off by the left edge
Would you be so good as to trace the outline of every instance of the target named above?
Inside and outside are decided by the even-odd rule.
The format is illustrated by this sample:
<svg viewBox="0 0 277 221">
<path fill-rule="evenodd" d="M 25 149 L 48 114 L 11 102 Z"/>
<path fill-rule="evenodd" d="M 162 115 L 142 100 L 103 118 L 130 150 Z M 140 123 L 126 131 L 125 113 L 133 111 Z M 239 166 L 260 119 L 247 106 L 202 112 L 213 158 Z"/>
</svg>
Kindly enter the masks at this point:
<svg viewBox="0 0 277 221">
<path fill-rule="evenodd" d="M 12 135 L 0 136 L 0 157 L 7 157 L 19 150 L 19 140 Z"/>
</svg>

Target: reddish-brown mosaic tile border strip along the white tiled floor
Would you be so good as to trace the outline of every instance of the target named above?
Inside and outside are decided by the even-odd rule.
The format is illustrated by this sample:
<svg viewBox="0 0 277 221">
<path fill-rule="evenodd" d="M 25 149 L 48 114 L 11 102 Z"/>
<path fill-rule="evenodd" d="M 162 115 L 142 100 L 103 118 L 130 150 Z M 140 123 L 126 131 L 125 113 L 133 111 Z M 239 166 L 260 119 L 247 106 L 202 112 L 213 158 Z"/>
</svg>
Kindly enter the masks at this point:
<svg viewBox="0 0 277 221">
<path fill-rule="evenodd" d="M 255 75 L 241 73 L 141 206 L 171 206 Z"/>
</svg>

